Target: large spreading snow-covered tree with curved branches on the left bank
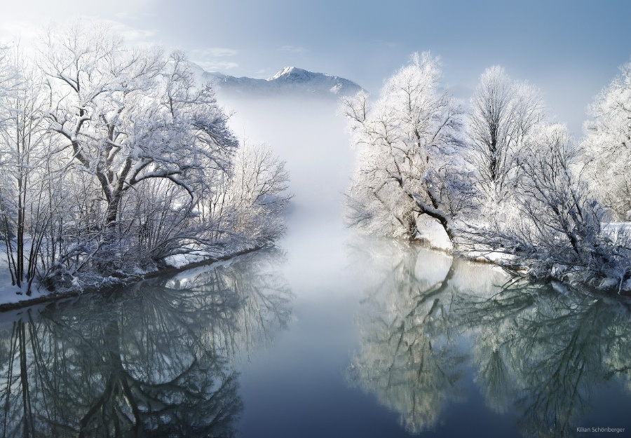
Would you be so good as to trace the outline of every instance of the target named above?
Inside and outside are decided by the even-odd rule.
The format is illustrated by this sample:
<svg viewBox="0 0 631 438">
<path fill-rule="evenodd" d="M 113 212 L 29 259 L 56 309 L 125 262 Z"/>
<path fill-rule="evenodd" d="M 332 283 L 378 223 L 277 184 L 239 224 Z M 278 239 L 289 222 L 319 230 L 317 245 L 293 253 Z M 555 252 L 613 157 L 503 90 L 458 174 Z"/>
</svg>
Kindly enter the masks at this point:
<svg viewBox="0 0 631 438">
<path fill-rule="evenodd" d="M 184 53 L 127 48 L 105 27 L 76 24 L 45 34 L 39 64 L 48 76 L 46 118 L 67 144 L 67 165 L 91 175 L 104 199 L 97 240 L 71 248 L 83 258 L 74 269 L 97 257 L 98 270 L 120 270 L 132 254 L 151 264 L 197 240 L 188 219 L 198 193 L 229 172 L 238 142 Z M 144 217 L 137 213 L 147 210 L 135 210 L 142 201 L 152 212 Z"/>
</svg>

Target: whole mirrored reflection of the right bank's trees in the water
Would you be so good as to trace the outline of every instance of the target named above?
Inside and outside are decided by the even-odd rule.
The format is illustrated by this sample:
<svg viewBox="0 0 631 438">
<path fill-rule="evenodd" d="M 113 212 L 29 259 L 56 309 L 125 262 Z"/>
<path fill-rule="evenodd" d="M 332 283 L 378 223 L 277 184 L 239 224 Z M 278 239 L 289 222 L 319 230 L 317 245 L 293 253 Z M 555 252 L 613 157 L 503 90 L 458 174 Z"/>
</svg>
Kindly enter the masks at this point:
<svg viewBox="0 0 631 438">
<path fill-rule="evenodd" d="M 627 301 L 515 282 L 402 244 L 356 258 L 379 278 L 362 303 L 349 380 L 409 432 L 433 429 L 449 402 L 466 398 L 467 369 L 489 409 L 517 413 L 524 436 L 574 436 L 595 388 L 613 378 L 631 390 Z"/>
</svg>

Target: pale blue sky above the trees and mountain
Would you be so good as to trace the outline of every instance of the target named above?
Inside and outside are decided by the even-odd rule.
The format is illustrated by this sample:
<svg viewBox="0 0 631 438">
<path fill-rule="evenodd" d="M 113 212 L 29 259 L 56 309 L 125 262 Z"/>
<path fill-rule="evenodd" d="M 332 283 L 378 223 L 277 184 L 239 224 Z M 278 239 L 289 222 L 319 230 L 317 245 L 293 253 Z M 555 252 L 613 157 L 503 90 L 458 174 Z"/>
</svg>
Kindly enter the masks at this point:
<svg viewBox="0 0 631 438">
<path fill-rule="evenodd" d="M 182 48 L 205 69 L 266 78 L 285 66 L 351 79 L 372 93 L 414 51 L 440 55 L 468 98 L 500 64 L 543 91 L 581 135 L 585 107 L 631 60 L 631 1 L 69 0 L 3 5 L 0 38 L 29 41 L 50 20 L 98 18 L 132 43 Z"/>
</svg>

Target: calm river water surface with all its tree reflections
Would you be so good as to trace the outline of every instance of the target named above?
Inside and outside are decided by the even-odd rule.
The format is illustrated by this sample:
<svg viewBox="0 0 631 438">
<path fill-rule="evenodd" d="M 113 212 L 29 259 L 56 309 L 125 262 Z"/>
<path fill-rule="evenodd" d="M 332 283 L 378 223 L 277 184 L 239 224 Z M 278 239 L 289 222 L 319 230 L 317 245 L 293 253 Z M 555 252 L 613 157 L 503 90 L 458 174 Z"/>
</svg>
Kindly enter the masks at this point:
<svg viewBox="0 0 631 438">
<path fill-rule="evenodd" d="M 257 252 L 3 315 L 1 436 L 631 435 L 628 303 L 330 249 L 330 271 Z"/>
</svg>

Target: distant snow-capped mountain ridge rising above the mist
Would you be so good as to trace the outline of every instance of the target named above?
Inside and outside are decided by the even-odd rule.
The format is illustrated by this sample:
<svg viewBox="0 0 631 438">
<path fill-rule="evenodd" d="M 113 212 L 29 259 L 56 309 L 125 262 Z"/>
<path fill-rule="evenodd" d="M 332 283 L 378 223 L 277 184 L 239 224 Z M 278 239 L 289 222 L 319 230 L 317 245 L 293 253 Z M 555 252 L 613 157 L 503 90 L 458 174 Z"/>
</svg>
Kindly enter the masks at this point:
<svg viewBox="0 0 631 438">
<path fill-rule="evenodd" d="M 339 97 L 354 95 L 362 88 L 348 79 L 324 73 L 314 73 L 297 67 L 285 67 L 267 79 L 236 78 L 217 72 L 203 71 L 205 81 L 215 85 L 220 95 L 315 95 Z"/>
</svg>

